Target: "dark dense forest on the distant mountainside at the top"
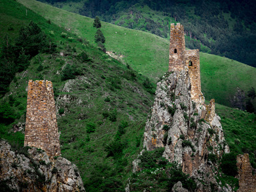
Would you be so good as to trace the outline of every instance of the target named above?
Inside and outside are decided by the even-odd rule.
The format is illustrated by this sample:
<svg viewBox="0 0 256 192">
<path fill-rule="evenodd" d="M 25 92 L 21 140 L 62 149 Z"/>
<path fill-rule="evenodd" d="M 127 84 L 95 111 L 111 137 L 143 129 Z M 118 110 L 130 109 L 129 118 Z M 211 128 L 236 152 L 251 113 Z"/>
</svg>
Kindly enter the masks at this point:
<svg viewBox="0 0 256 192">
<path fill-rule="evenodd" d="M 188 48 L 199 48 L 256 66 L 256 53 L 252 51 L 256 46 L 256 3 L 253 0 L 41 1 L 87 17 L 98 15 L 103 21 L 164 38 L 169 37 L 170 22 L 180 22 L 185 27 Z M 149 8 L 147 14 L 145 7 Z"/>
</svg>

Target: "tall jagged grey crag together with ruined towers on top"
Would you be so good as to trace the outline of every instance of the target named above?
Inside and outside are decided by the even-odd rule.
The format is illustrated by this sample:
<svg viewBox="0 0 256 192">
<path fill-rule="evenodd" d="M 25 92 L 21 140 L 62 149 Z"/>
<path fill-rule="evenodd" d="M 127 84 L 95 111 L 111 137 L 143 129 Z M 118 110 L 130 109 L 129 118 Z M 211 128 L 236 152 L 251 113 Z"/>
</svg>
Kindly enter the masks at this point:
<svg viewBox="0 0 256 192">
<path fill-rule="evenodd" d="M 183 30 L 179 23 L 171 24 L 169 73 L 157 83 L 143 146 L 149 151 L 165 147 L 163 157 L 181 165 L 182 171 L 195 179 L 197 191 L 211 191 L 211 184 L 218 191 L 232 191 L 215 179 L 216 160 L 224 151 L 229 153 L 229 147 L 221 119 L 215 114 L 215 101 L 206 105 L 201 93 L 199 50 L 185 50 Z M 137 170 L 139 161 L 135 160 L 133 171 Z"/>
</svg>

